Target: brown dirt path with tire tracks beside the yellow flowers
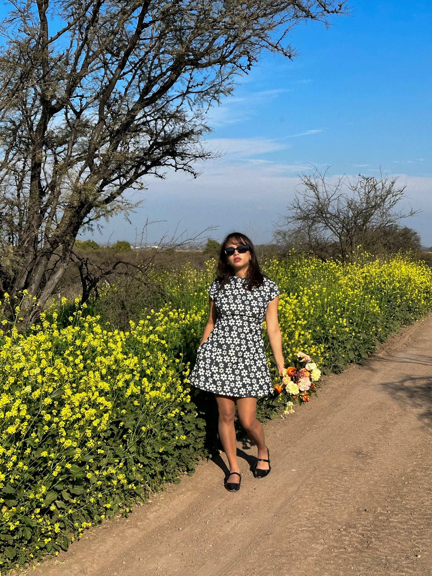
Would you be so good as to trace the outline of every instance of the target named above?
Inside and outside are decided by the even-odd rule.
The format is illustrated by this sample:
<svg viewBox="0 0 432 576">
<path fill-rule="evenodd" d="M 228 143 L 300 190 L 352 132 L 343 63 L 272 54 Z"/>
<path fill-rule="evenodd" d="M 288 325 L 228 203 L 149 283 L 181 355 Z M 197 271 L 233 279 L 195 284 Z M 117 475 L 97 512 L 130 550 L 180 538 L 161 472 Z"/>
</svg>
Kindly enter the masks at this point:
<svg viewBox="0 0 432 576">
<path fill-rule="evenodd" d="M 271 475 L 222 458 L 106 522 L 38 576 L 432 575 L 432 316 L 266 426 Z"/>
</svg>

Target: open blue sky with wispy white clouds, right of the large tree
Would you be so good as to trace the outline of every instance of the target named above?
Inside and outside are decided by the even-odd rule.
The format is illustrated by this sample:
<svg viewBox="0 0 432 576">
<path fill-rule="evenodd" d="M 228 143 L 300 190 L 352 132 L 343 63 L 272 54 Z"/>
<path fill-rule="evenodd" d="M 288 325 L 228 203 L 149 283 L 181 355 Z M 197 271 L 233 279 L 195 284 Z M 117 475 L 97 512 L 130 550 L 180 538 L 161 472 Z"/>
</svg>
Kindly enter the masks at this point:
<svg viewBox="0 0 432 576">
<path fill-rule="evenodd" d="M 293 29 L 293 62 L 266 55 L 232 97 L 210 112 L 209 145 L 225 151 L 191 180 L 167 175 L 149 181 L 145 202 L 110 222 L 103 236 L 133 241 L 146 217 L 163 221 L 149 240 L 178 229 L 217 226 L 223 237 L 243 230 L 271 239 L 308 164 L 331 175 L 399 175 L 404 208 L 422 213 L 404 221 L 432 245 L 432 7 L 418 2 L 351 3 L 351 16 L 328 29 L 309 22 Z"/>
</svg>

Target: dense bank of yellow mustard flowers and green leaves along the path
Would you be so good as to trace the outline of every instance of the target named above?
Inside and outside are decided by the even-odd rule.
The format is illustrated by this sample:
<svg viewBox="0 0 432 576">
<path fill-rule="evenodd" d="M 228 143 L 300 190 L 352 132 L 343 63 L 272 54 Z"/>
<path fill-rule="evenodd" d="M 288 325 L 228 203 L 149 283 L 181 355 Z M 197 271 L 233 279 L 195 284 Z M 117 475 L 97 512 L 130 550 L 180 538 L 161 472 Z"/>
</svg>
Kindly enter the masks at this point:
<svg viewBox="0 0 432 576">
<path fill-rule="evenodd" d="M 324 372 L 342 370 L 432 306 L 430 268 L 404 256 L 344 267 L 271 260 L 264 272 L 281 290 L 287 366 L 301 350 Z M 1 339 L 2 571 L 66 550 L 191 473 L 214 446 L 211 399 L 188 386 L 214 263 L 158 274 L 170 302 L 126 332 L 63 299 L 26 334 Z M 276 384 L 270 348 L 268 362 Z M 291 400 L 286 391 L 261 400 L 260 417 Z"/>
</svg>

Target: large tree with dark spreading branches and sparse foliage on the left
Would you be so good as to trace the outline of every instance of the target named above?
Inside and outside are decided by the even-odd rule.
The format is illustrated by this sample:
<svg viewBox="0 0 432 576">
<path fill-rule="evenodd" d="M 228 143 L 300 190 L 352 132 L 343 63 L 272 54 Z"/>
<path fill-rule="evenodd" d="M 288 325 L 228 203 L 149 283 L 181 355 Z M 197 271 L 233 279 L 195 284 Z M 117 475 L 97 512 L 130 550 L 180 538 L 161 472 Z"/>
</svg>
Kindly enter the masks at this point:
<svg viewBox="0 0 432 576">
<path fill-rule="evenodd" d="M 79 230 L 166 169 L 197 175 L 206 111 L 345 0 L 18 0 L 0 51 L 0 296 L 40 308 Z M 23 306 L 31 307 L 23 302 Z"/>
</svg>

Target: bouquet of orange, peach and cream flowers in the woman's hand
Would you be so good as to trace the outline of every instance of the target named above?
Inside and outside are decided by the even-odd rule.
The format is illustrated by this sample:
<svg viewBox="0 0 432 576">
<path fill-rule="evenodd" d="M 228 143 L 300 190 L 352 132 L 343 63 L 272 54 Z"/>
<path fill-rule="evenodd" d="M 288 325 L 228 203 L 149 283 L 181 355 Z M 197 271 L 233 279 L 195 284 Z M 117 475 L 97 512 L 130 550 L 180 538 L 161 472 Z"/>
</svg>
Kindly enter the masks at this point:
<svg viewBox="0 0 432 576">
<path fill-rule="evenodd" d="M 280 394 L 285 390 L 293 400 L 298 403 L 309 402 L 310 391 L 314 392 L 315 382 L 321 377 L 321 370 L 317 368 L 312 358 L 304 352 L 297 354 L 295 366 L 287 367 L 282 374 L 282 384 L 276 384 L 275 392 Z M 314 392 L 315 393 L 315 392 Z M 289 412 L 294 412 L 293 403 L 289 402 Z"/>
</svg>

